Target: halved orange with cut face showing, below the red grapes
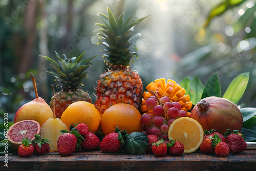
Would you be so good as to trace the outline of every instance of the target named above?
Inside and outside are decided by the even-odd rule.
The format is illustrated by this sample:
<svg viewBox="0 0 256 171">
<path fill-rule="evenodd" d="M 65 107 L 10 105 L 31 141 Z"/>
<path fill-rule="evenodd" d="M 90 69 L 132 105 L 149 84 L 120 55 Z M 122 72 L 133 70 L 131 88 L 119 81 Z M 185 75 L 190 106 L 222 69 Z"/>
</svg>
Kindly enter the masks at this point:
<svg viewBox="0 0 256 171">
<path fill-rule="evenodd" d="M 181 117 L 170 124 L 168 131 L 169 140 L 181 142 L 184 153 L 195 152 L 204 140 L 204 130 L 198 121 L 189 117 Z"/>
</svg>

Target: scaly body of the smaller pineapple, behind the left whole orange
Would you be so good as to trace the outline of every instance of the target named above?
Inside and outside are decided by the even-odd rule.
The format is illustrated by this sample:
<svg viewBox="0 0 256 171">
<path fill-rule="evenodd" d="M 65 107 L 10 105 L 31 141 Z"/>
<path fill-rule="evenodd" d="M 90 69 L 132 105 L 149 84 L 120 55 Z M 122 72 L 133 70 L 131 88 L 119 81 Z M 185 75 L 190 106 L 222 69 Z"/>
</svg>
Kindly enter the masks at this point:
<svg viewBox="0 0 256 171">
<path fill-rule="evenodd" d="M 53 96 L 50 101 L 50 108 L 53 111 Z M 56 118 L 61 118 L 62 113 L 72 103 L 76 101 L 87 101 L 92 103 L 92 99 L 89 94 L 82 89 L 76 89 L 75 91 L 59 91 L 55 94 L 55 114 Z"/>
</svg>

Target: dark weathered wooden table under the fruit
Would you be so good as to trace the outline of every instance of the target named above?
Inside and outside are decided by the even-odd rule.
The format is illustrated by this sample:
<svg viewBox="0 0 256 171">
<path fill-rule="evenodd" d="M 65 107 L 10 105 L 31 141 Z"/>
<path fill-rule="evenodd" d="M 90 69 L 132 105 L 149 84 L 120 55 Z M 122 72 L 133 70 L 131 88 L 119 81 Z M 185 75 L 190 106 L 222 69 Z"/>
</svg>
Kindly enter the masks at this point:
<svg viewBox="0 0 256 171">
<path fill-rule="evenodd" d="M 74 152 L 62 157 L 58 152 L 23 158 L 18 154 L 0 158 L 0 170 L 256 170 L 256 146 L 248 145 L 244 152 L 218 157 L 200 151 L 181 156 L 156 157 L 153 154 L 127 155 L 102 151 Z"/>
</svg>

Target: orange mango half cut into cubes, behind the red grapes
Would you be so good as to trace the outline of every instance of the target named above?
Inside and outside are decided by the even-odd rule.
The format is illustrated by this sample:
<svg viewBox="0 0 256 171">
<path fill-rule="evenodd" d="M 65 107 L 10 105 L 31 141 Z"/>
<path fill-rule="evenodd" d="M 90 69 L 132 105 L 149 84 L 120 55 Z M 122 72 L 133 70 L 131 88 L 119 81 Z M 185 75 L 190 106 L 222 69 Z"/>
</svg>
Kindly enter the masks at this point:
<svg viewBox="0 0 256 171">
<path fill-rule="evenodd" d="M 154 82 L 152 81 L 150 84 L 148 84 L 146 89 L 147 92 L 143 93 L 143 99 L 141 104 L 141 112 L 143 114 L 151 114 L 153 116 L 153 110 L 148 109 L 145 103 L 148 98 L 152 97 L 155 94 L 159 99 L 167 96 L 170 100 L 169 102 L 180 103 L 181 107 L 179 110 L 185 111 L 187 116 L 190 116 L 190 112 L 188 112 L 188 110 L 192 108 L 192 102 L 190 101 L 190 97 L 188 94 L 185 95 L 186 90 L 174 80 L 168 79 L 166 82 L 164 78 L 156 79 L 154 80 Z M 163 102 L 165 101 L 163 100 Z M 164 113 L 163 117 L 168 120 L 166 115 L 167 111 Z"/>
</svg>

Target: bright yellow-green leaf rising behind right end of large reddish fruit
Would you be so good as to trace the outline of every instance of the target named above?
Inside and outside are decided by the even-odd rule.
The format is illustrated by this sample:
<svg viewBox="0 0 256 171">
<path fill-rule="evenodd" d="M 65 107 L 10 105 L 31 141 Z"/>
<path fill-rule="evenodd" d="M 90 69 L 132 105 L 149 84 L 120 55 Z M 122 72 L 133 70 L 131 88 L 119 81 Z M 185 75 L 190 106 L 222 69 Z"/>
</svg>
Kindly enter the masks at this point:
<svg viewBox="0 0 256 171">
<path fill-rule="evenodd" d="M 248 81 L 249 72 L 239 74 L 231 81 L 223 95 L 223 98 L 226 98 L 232 101 L 234 104 L 237 104 L 245 92 Z"/>
</svg>

